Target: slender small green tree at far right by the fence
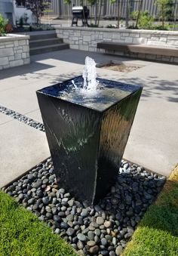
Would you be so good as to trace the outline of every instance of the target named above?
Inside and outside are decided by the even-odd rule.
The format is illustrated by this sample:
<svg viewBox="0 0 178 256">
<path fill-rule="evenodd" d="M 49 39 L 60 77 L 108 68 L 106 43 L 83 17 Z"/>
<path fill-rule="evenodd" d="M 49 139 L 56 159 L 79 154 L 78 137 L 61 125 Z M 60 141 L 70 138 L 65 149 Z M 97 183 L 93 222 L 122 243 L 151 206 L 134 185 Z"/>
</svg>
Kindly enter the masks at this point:
<svg viewBox="0 0 178 256">
<path fill-rule="evenodd" d="M 173 1 L 172 0 L 156 0 L 159 8 L 160 19 L 162 21 L 162 28 L 164 29 L 165 20 L 172 14 Z"/>
</svg>

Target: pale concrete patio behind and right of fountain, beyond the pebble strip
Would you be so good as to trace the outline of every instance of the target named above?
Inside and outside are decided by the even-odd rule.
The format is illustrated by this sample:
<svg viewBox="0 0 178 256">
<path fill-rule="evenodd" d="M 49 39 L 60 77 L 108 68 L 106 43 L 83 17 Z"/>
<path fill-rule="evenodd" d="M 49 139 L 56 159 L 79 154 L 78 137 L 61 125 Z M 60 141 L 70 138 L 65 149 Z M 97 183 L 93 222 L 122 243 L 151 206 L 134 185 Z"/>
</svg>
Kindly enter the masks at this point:
<svg viewBox="0 0 178 256">
<path fill-rule="evenodd" d="M 2 76 L 0 103 L 20 113 L 29 113 L 34 119 L 36 116 L 37 121 L 40 121 L 35 91 L 81 75 L 84 58 L 87 55 L 94 57 L 97 63 L 116 60 L 143 65 L 142 68 L 130 73 L 107 69 L 97 69 L 97 72 L 106 79 L 144 86 L 124 158 L 152 171 L 169 175 L 178 159 L 176 65 L 130 60 L 109 54 L 71 49 L 34 55 L 29 65 L 0 71 L 0 77 Z M 14 88 L 11 88 L 11 85 Z M 40 131 L 36 130 L 36 132 Z"/>
</svg>

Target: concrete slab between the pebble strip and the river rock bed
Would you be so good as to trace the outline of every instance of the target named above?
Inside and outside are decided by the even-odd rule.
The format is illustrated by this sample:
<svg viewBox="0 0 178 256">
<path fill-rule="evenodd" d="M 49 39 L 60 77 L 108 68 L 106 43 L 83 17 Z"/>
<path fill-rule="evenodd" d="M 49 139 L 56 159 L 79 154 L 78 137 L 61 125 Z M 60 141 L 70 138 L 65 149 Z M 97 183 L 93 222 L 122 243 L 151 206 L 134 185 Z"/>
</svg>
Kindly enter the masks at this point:
<svg viewBox="0 0 178 256">
<path fill-rule="evenodd" d="M 45 134 L 13 120 L 0 125 L 0 187 L 50 156 Z"/>
</svg>

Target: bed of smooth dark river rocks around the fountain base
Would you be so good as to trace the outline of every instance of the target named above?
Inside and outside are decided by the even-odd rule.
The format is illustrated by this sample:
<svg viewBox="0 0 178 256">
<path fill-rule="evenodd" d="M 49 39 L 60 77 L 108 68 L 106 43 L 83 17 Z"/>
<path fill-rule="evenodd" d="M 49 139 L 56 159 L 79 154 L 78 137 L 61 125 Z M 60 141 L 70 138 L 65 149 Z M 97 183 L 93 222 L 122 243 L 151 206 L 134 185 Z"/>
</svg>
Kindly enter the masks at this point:
<svg viewBox="0 0 178 256">
<path fill-rule="evenodd" d="M 81 255 L 120 255 L 165 177 L 122 160 L 110 193 L 94 207 L 75 200 L 56 184 L 51 158 L 3 188 Z M 82 191 L 81 191 L 82 193 Z"/>
</svg>

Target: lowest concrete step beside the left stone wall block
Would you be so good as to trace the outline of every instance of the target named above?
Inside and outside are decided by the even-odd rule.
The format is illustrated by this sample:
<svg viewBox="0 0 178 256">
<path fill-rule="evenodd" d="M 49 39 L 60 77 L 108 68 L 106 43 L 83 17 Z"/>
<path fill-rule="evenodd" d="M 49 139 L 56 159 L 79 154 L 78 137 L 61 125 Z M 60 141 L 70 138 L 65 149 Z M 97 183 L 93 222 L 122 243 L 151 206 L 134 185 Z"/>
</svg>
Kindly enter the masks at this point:
<svg viewBox="0 0 178 256">
<path fill-rule="evenodd" d="M 64 50 L 64 49 L 69 49 L 69 44 L 61 43 L 61 44 L 57 44 L 57 45 L 47 45 L 47 46 L 30 48 L 29 54 L 30 55 L 44 54 L 45 52 L 60 51 L 60 50 Z"/>
</svg>

